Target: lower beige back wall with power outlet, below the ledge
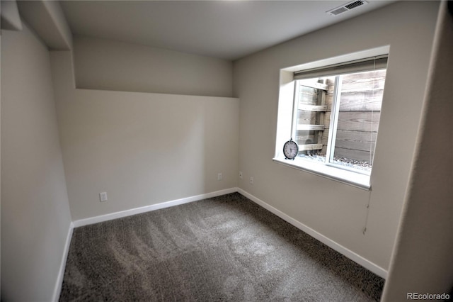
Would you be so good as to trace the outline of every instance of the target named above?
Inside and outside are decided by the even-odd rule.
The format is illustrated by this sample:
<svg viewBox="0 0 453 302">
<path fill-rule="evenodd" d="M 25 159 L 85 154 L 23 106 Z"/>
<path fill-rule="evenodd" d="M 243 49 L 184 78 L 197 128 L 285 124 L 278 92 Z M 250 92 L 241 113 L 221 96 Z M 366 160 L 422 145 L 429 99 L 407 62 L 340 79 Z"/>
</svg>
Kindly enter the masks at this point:
<svg viewBox="0 0 453 302">
<path fill-rule="evenodd" d="M 51 57 L 74 220 L 237 186 L 238 99 L 74 89 L 71 53 Z"/>
</svg>

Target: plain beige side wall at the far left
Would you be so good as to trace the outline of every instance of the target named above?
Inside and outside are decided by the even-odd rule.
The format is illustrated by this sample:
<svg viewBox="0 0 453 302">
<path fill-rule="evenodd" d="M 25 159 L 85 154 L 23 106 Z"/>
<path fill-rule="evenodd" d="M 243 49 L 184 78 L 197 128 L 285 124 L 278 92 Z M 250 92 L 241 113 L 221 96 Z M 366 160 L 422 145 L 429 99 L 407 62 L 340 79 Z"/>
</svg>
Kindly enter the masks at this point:
<svg viewBox="0 0 453 302">
<path fill-rule="evenodd" d="M 50 301 L 70 230 L 47 47 L 1 33 L 1 300 Z"/>
</svg>

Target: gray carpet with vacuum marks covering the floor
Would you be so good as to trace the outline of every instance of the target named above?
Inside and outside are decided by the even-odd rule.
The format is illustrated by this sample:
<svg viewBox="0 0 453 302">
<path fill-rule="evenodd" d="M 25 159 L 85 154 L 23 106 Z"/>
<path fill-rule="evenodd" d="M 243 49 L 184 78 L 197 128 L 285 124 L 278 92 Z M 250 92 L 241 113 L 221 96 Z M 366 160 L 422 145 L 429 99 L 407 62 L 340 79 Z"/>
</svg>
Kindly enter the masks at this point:
<svg viewBox="0 0 453 302">
<path fill-rule="evenodd" d="M 60 301 L 379 301 L 384 280 L 227 194 L 75 228 Z"/>
</svg>

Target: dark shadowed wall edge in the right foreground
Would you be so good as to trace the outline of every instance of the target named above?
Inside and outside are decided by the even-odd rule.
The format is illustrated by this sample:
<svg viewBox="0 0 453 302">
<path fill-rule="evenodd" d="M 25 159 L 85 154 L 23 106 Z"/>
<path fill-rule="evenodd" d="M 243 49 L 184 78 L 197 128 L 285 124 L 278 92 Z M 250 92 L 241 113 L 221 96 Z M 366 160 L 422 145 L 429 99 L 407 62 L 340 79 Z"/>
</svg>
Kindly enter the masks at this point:
<svg viewBox="0 0 453 302">
<path fill-rule="evenodd" d="M 383 301 L 405 301 L 407 293 L 449 293 L 450 299 L 453 295 L 452 14 L 444 2 L 411 182 Z M 437 147 L 427 148 L 432 145 Z"/>
</svg>

